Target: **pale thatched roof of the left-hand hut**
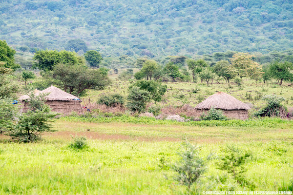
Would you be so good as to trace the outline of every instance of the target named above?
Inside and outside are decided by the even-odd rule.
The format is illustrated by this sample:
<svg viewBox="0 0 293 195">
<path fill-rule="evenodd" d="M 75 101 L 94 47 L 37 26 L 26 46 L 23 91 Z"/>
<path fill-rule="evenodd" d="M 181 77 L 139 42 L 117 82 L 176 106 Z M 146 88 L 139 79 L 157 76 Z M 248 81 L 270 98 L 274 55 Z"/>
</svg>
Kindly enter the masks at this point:
<svg viewBox="0 0 293 195">
<path fill-rule="evenodd" d="M 39 91 L 38 93 L 35 93 L 35 95 L 40 95 L 40 94 L 48 94 L 47 96 L 45 96 L 45 99 L 47 101 L 81 101 L 80 98 L 76 97 L 76 96 L 73 96 L 71 94 L 68 94 L 64 91 L 62 91 L 61 89 L 51 85 L 50 87 L 48 87 L 47 89 L 44 89 L 42 91 Z M 24 95 L 24 96 L 27 96 L 27 95 Z M 24 96 L 21 96 L 24 97 Z M 25 99 L 21 99 L 20 100 L 25 100 L 25 99 L 28 99 L 29 97 L 24 97 Z"/>
</svg>

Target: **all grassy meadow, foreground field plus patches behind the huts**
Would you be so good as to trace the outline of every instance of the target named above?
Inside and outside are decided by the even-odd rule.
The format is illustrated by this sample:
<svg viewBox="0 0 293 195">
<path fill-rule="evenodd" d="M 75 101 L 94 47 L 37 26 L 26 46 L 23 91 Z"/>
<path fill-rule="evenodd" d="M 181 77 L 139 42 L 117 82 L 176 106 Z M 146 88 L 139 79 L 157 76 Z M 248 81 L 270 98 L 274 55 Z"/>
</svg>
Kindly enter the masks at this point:
<svg viewBox="0 0 293 195">
<path fill-rule="evenodd" d="M 131 81 L 115 80 L 101 91 L 89 91 L 84 101 L 95 102 L 102 93 L 127 95 Z M 159 104 L 195 106 L 201 98 L 217 91 L 260 107 L 255 98 L 266 94 L 285 97 L 290 109 L 291 87 L 285 83 L 168 82 Z M 196 93 L 193 93 L 194 89 Z M 251 99 L 246 94 L 251 94 Z M 182 96 L 183 98 L 182 98 Z M 169 167 L 180 159 L 185 139 L 200 146 L 200 156 L 212 156 L 207 171 L 193 186 L 202 191 L 288 191 L 293 187 L 293 122 L 278 118 L 188 121 L 156 120 L 130 115 L 114 117 L 60 117 L 52 123 L 52 133 L 44 133 L 35 143 L 15 143 L 0 135 L 0 194 L 185 194 Z M 69 147 L 72 137 L 87 138 L 87 147 Z M 230 173 L 218 169 L 228 146 L 249 151 L 244 176 L 250 186 L 238 183 Z M 201 193 L 199 193 L 201 194 Z"/>
</svg>

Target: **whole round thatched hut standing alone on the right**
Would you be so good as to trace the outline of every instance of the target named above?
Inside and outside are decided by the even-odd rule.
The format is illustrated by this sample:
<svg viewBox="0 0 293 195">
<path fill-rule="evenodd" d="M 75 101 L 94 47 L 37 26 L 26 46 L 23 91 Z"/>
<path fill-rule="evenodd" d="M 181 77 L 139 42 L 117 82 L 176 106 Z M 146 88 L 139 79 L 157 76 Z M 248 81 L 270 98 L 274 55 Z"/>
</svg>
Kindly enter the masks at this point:
<svg viewBox="0 0 293 195">
<path fill-rule="evenodd" d="M 210 108 L 223 110 L 223 114 L 228 118 L 242 120 L 248 118 L 248 110 L 250 109 L 247 104 L 229 94 L 218 92 L 195 107 L 195 110 L 197 110 L 196 117 L 206 114 Z"/>
</svg>

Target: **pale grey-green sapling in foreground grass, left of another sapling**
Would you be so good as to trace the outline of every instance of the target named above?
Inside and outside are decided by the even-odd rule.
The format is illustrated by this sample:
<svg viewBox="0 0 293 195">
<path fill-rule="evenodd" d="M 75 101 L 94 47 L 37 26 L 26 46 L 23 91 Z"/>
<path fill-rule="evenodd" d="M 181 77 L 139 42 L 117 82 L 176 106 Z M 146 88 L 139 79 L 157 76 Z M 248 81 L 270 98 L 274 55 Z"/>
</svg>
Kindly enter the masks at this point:
<svg viewBox="0 0 293 195">
<path fill-rule="evenodd" d="M 171 166 L 171 169 L 176 172 L 174 179 L 186 185 L 189 192 L 192 184 L 206 172 L 207 165 L 205 159 L 199 156 L 198 146 L 193 146 L 188 141 L 184 146 L 186 149 L 179 153 L 180 160 Z"/>
</svg>

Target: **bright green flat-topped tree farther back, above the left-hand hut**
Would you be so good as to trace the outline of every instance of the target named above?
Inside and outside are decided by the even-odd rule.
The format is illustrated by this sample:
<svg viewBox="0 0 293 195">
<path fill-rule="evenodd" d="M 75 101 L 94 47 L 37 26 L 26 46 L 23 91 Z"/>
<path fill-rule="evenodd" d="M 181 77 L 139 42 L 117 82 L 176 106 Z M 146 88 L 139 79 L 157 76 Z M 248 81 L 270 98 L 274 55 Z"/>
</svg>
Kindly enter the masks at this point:
<svg viewBox="0 0 293 195">
<path fill-rule="evenodd" d="M 33 68 L 41 70 L 52 70 L 58 63 L 65 63 L 70 65 L 84 64 L 84 59 L 77 56 L 75 52 L 69 51 L 56 51 L 56 50 L 39 50 L 34 56 L 36 60 Z"/>
</svg>

